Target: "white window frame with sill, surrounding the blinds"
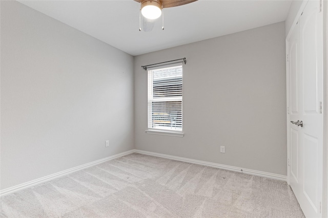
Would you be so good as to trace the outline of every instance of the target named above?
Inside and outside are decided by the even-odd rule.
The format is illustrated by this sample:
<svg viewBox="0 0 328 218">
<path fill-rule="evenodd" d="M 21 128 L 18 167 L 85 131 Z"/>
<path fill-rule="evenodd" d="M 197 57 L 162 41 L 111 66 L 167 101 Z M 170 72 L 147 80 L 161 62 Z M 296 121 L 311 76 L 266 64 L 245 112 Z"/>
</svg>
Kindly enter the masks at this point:
<svg viewBox="0 0 328 218">
<path fill-rule="evenodd" d="M 153 71 L 159 70 L 159 69 L 170 69 L 170 68 L 177 68 L 181 67 L 182 69 L 182 95 L 179 98 L 172 98 L 172 97 L 167 97 L 167 98 L 150 98 L 150 96 L 153 96 L 153 80 L 152 80 L 152 74 Z M 183 133 L 183 65 L 181 63 L 178 64 L 170 64 L 167 66 L 161 66 L 161 67 L 156 67 L 153 69 L 147 70 L 147 127 L 148 129 L 146 130 L 146 133 L 148 134 L 155 134 L 155 135 L 167 135 L 167 136 L 177 136 L 177 137 L 183 137 L 185 134 Z M 152 113 L 153 109 L 151 108 L 153 102 L 161 102 L 161 101 L 181 101 L 181 129 L 180 130 L 172 130 L 170 128 L 152 128 L 149 125 L 153 124 L 152 119 Z"/>
</svg>

